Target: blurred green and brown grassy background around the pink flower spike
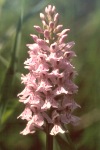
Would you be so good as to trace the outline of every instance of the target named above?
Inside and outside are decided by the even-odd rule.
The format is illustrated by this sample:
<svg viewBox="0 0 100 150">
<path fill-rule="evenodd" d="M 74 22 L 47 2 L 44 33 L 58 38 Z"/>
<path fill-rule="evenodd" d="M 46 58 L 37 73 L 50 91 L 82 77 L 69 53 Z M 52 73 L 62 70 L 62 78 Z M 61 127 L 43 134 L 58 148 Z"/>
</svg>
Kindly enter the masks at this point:
<svg viewBox="0 0 100 150">
<path fill-rule="evenodd" d="M 41 25 L 39 13 L 55 5 L 60 23 L 70 28 L 68 41 L 75 41 L 74 64 L 79 86 L 76 101 L 81 117 L 76 127 L 69 125 L 77 150 L 100 150 L 100 0 L 0 0 L 0 150 L 44 150 L 42 131 L 23 136 L 26 122 L 17 119 L 24 105 L 17 94 L 23 89 L 20 75 L 25 73 L 29 36 L 33 25 Z M 54 150 L 74 150 L 65 137 L 55 138 Z M 69 140 L 68 140 L 69 141 Z M 60 144 L 60 146 L 59 146 Z"/>
</svg>

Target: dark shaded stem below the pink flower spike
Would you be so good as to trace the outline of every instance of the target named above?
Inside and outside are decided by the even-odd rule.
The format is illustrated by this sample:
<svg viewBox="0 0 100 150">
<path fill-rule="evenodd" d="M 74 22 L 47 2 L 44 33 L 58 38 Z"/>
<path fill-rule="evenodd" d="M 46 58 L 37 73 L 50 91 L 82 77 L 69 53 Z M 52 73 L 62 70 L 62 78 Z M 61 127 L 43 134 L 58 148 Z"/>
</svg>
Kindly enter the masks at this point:
<svg viewBox="0 0 100 150">
<path fill-rule="evenodd" d="M 53 136 L 50 135 L 51 124 L 46 126 L 46 150 L 53 150 Z"/>
</svg>

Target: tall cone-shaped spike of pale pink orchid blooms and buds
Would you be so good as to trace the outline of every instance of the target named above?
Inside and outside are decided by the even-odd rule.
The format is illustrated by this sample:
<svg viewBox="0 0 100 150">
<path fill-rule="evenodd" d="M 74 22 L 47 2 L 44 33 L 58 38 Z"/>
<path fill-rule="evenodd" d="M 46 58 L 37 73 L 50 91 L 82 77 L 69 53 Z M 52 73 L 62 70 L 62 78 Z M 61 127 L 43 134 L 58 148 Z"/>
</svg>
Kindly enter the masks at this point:
<svg viewBox="0 0 100 150">
<path fill-rule="evenodd" d="M 78 87 L 73 83 L 76 75 L 71 60 L 74 42 L 66 43 L 69 29 L 58 24 L 59 14 L 55 6 L 48 5 L 45 13 L 40 13 L 43 28 L 34 26 L 38 36 L 32 34 L 33 44 L 27 44 L 29 58 L 24 62 L 29 73 L 22 75 L 24 90 L 18 94 L 25 110 L 19 116 L 27 120 L 23 135 L 45 130 L 51 124 L 51 135 L 64 133 L 65 124 L 76 124 L 78 117 L 72 112 L 79 107 L 73 95 Z"/>
</svg>

